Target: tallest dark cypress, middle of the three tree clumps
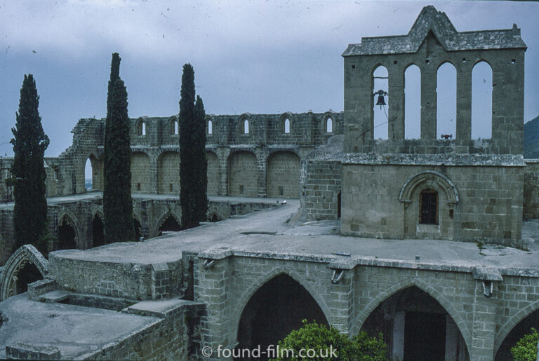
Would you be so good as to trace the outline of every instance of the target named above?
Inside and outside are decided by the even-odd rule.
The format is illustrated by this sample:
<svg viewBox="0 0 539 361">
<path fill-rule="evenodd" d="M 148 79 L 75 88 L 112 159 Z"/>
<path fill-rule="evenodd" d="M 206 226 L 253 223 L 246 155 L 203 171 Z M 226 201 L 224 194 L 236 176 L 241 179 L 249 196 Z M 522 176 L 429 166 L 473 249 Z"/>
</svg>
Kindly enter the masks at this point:
<svg viewBox="0 0 539 361">
<path fill-rule="evenodd" d="M 118 53 L 112 54 L 107 96 L 103 164 L 105 243 L 125 242 L 135 238 L 131 199 L 130 121 L 127 115 L 127 91 L 119 76 L 120 60 Z"/>
</svg>

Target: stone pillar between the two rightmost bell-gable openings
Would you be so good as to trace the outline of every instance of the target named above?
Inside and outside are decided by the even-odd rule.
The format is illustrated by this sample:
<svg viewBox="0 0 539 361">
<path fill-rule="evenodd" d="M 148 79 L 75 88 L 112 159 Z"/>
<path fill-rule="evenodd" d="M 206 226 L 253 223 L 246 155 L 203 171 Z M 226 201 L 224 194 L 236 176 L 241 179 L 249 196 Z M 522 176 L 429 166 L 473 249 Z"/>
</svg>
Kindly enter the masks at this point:
<svg viewBox="0 0 539 361">
<path fill-rule="evenodd" d="M 457 68 L 457 139 L 472 138 L 472 63 Z"/>
</svg>

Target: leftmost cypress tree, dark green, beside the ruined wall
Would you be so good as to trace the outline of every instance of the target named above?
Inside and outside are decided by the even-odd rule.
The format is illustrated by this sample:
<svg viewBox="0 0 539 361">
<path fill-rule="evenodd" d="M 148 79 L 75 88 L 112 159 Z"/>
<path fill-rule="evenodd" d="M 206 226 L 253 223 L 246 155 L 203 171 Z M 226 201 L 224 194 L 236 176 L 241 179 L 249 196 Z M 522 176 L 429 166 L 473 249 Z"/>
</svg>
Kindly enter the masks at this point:
<svg viewBox="0 0 539 361">
<path fill-rule="evenodd" d="M 39 96 L 32 74 L 25 75 L 20 89 L 17 122 L 12 128 L 13 139 L 13 196 L 15 210 L 15 249 L 32 244 L 47 254 L 47 200 L 45 188 L 44 154 L 48 137 L 39 116 Z"/>
</svg>

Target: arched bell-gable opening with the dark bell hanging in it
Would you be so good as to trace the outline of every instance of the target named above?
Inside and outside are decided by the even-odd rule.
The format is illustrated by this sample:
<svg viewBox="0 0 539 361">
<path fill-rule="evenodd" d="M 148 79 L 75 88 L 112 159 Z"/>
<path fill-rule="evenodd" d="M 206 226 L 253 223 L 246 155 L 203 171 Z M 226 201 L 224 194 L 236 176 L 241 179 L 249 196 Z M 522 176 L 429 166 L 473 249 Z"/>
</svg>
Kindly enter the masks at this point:
<svg viewBox="0 0 539 361">
<path fill-rule="evenodd" d="M 388 137 L 387 108 L 390 104 L 390 98 L 387 95 L 387 90 L 389 88 L 388 79 L 389 74 L 384 66 L 380 65 L 373 71 L 374 139 L 387 139 Z M 385 104 L 382 104 L 382 99 L 384 99 Z"/>
</svg>

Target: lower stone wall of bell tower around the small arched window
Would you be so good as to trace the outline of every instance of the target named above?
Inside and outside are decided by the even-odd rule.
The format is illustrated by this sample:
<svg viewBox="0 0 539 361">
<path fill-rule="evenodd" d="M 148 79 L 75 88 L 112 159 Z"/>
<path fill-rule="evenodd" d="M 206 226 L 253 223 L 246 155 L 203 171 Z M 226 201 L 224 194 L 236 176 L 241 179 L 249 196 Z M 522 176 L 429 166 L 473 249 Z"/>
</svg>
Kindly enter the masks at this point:
<svg viewBox="0 0 539 361">
<path fill-rule="evenodd" d="M 421 174 L 433 177 L 413 179 Z M 444 185 L 442 177 L 455 188 Z M 341 231 L 375 238 L 477 240 L 521 246 L 522 179 L 518 166 L 347 164 Z M 410 193 L 405 197 L 408 184 Z M 437 191 L 436 224 L 420 222 L 420 192 L 424 189 Z"/>
</svg>

